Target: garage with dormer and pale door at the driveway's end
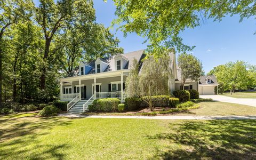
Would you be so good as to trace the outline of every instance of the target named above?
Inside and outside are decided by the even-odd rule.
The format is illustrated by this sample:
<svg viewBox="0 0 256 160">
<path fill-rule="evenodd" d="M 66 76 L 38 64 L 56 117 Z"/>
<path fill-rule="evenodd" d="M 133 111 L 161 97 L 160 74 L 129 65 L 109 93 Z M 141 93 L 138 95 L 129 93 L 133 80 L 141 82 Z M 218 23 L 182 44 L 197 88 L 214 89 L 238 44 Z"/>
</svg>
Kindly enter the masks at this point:
<svg viewBox="0 0 256 160">
<path fill-rule="evenodd" d="M 200 77 L 198 92 L 200 95 L 214 95 L 214 88 L 218 86 L 217 78 L 214 75 Z"/>
</svg>

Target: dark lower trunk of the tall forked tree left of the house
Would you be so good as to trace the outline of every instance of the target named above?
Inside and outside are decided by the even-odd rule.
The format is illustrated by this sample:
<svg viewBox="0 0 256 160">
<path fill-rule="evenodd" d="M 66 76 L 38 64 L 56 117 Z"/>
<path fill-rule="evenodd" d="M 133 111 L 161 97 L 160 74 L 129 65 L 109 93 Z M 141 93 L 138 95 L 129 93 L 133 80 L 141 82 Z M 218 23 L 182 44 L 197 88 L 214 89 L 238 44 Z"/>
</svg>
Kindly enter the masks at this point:
<svg viewBox="0 0 256 160">
<path fill-rule="evenodd" d="M 40 77 L 40 89 L 44 90 L 45 89 L 45 78 L 46 78 L 46 63 L 50 51 L 50 45 L 51 45 L 51 38 L 46 38 L 45 40 L 45 50 L 44 50 L 44 64 L 42 66 L 42 73 Z"/>
</svg>

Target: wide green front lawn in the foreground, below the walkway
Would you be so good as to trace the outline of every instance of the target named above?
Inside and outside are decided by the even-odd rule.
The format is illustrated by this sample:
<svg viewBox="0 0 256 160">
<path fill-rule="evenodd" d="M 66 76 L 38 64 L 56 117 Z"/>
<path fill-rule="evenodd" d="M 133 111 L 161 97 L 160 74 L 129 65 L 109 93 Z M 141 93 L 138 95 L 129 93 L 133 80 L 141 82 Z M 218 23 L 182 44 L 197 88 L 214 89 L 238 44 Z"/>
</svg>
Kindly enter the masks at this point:
<svg viewBox="0 0 256 160">
<path fill-rule="evenodd" d="M 0 117 L 0 159 L 253 159 L 256 121 Z"/>
</svg>

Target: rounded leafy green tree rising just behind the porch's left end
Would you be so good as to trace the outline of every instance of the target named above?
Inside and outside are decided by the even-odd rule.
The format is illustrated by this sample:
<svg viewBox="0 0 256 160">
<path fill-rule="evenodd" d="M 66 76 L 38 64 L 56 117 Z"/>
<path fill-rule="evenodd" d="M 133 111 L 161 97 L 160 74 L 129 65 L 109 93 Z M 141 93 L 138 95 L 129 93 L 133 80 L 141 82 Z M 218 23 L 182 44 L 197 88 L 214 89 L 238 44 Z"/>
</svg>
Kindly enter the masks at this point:
<svg viewBox="0 0 256 160">
<path fill-rule="evenodd" d="M 67 27 L 56 38 L 53 52 L 57 52 L 60 66 L 68 75 L 78 65 L 81 59 L 90 62 L 98 57 L 109 57 L 123 53 L 118 47 L 119 40 L 114 38 L 108 28 L 98 23 L 77 25 L 77 28 Z M 59 54 L 58 54 L 59 53 Z"/>
</svg>

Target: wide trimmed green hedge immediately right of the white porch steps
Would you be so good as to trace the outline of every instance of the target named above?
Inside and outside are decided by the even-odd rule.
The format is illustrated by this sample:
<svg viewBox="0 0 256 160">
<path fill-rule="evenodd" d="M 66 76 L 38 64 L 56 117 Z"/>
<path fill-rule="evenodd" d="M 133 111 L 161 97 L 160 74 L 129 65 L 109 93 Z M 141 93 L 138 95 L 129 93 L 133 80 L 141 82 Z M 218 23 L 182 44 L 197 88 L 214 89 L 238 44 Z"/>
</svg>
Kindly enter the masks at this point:
<svg viewBox="0 0 256 160">
<path fill-rule="evenodd" d="M 88 107 L 90 111 L 116 111 L 119 103 L 117 98 L 95 99 Z"/>
</svg>

